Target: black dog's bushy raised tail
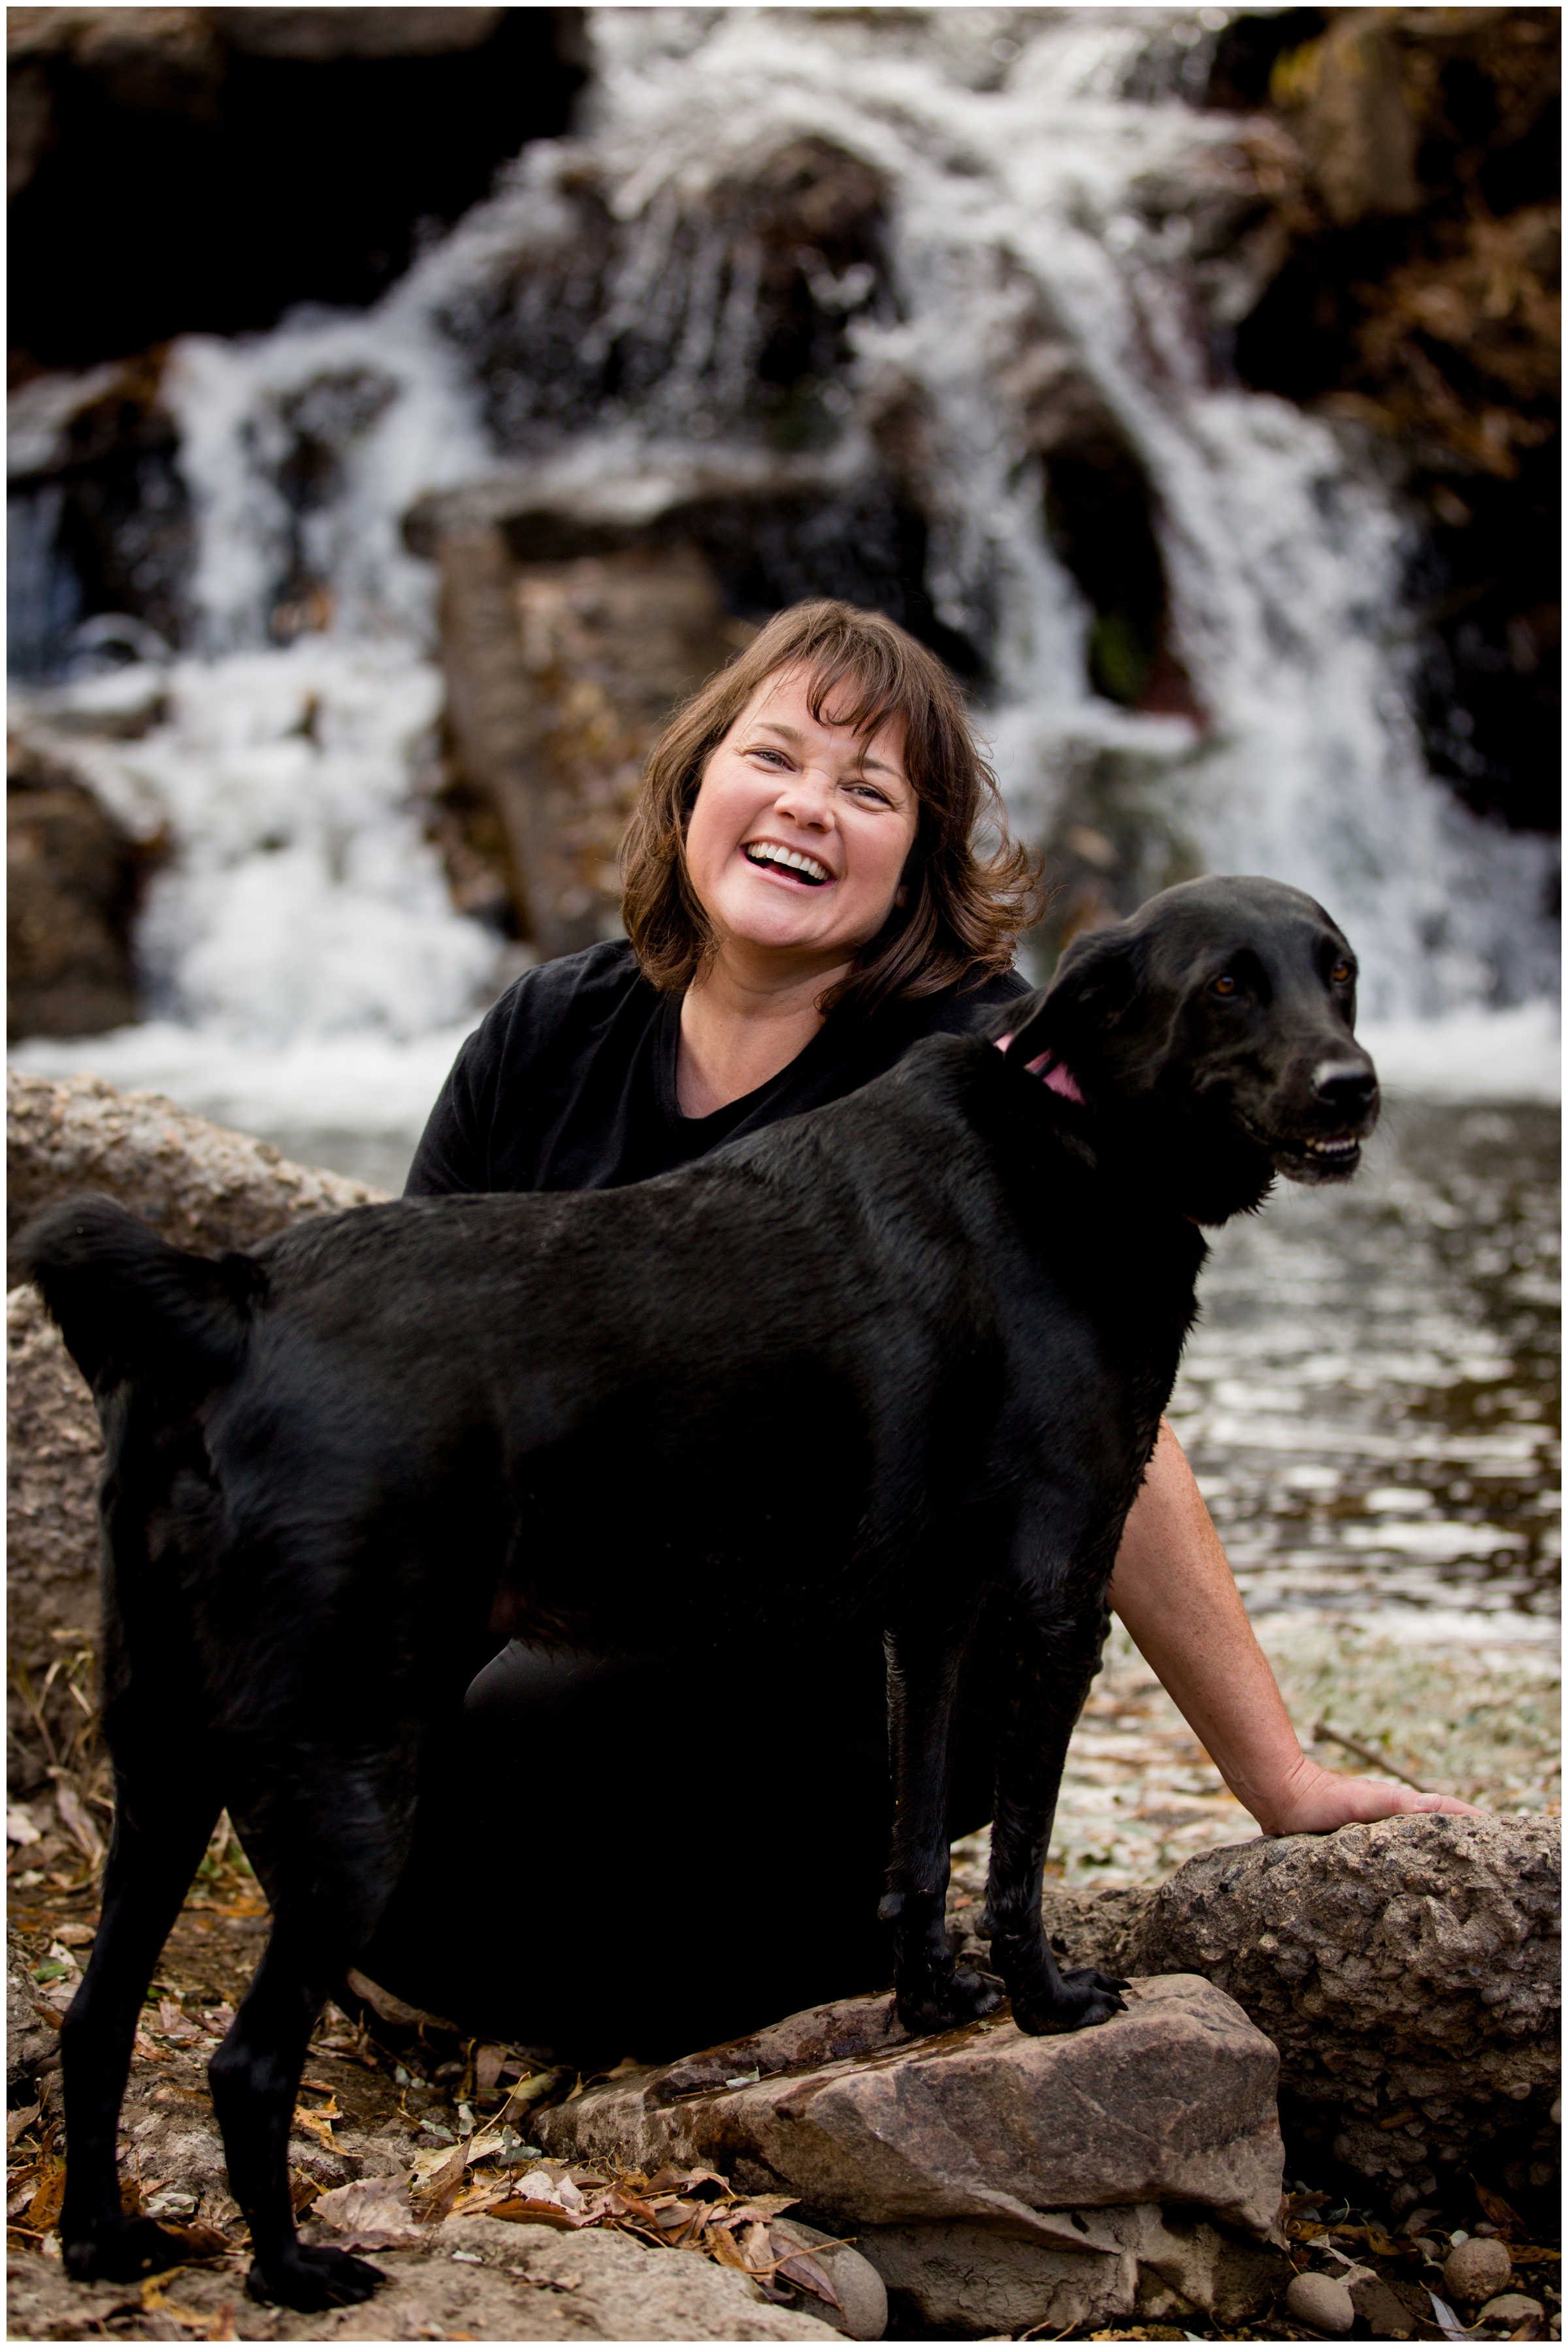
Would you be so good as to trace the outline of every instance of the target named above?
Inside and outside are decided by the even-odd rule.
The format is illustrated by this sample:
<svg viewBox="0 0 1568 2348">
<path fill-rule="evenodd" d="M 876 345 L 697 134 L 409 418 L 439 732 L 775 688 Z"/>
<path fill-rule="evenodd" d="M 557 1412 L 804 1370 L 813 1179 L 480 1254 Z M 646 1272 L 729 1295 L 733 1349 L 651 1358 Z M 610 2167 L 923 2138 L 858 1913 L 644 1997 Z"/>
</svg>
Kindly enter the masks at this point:
<svg viewBox="0 0 1568 2348">
<path fill-rule="evenodd" d="M 113 1197 L 47 1207 L 14 1256 L 94 1388 L 141 1376 L 225 1383 L 268 1294 L 251 1256 L 188 1256 Z"/>
</svg>

